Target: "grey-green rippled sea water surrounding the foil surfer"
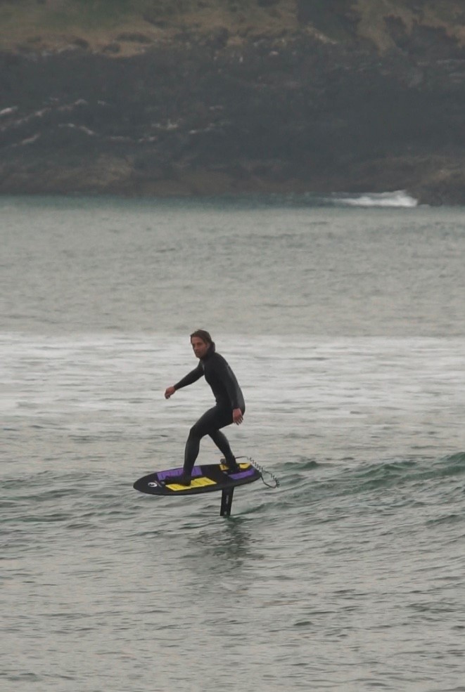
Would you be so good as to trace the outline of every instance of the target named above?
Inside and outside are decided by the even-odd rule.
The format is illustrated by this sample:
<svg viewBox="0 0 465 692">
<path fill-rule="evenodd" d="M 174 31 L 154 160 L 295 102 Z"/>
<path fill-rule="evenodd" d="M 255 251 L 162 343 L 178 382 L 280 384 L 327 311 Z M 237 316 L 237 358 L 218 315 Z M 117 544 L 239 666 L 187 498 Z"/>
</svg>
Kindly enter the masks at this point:
<svg viewBox="0 0 465 692">
<path fill-rule="evenodd" d="M 465 690 L 465 211 L 0 199 L 2 689 Z M 279 477 L 158 498 L 211 405 Z M 204 440 L 200 459 L 215 462 Z"/>
</svg>

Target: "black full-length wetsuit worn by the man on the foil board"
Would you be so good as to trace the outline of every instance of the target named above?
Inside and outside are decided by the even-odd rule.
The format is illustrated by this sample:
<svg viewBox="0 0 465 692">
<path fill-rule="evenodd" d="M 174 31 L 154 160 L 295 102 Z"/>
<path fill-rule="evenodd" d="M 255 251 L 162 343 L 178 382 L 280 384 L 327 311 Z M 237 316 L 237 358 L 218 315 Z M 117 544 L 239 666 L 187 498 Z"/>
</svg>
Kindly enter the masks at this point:
<svg viewBox="0 0 465 692">
<path fill-rule="evenodd" d="M 184 452 L 184 474 L 187 476 L 191 474 L 193 465 L 196 463 L 200 440 L 205 435 L 212 438 L 224 455 L 227 464 L 234 465 L 236 463 L 227 437 L 219 429 L 231 425 L 233 422 L 232 412 L 235 408 L 241 409 L 242 413 L 246 410 L 243 393 L 238 385 L 236 375 L 222 355 L 215 352 L 215 344 L 211 344 L 205 358 L 200 358 L 198 366 L 175 384 L 174 389 L 181 389 L 193 384 L 203 375 L 212 388 L 216 405 L 205 412 L 191 427 Z"/>
</svg>

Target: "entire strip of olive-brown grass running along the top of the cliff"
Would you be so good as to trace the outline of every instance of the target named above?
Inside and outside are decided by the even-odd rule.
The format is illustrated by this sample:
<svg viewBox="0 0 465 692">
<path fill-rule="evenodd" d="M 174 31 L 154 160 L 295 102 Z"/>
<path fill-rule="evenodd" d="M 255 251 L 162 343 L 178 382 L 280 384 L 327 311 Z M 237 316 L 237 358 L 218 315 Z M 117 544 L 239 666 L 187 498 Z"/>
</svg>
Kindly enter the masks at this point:
<svg viewBox="0 0 465 692">
<path fill-rule="evenodd" d="M 380 51 L 424 27 L 465 45 L 465 7 L 463 0 L 0 0 L 0 49 L 13 51 L 60 50 L 77 39 L 98 52 L 132 32 L 116 51 L 125 55 L 186 29 L 220 27 L 231 37 L 316 31 Z"/>
</svg>

